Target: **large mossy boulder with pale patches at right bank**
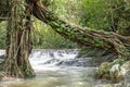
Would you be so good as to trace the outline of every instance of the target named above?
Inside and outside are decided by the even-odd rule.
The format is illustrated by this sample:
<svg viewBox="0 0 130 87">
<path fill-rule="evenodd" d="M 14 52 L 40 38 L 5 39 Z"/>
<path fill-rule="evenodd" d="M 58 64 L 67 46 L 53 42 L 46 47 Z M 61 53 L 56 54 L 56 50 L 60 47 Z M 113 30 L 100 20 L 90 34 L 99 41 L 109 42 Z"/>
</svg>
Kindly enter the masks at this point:
<svg viewBox="0 0 130 87">
<path fill-rule="evenodd" d="M 119 83 L 130 74 L 130 61 L 117 59 L 113 62 L 104 62 L 95 72 L 95 77 L 100 79 L 110 79 L 113 83 Z"/>
</svg>

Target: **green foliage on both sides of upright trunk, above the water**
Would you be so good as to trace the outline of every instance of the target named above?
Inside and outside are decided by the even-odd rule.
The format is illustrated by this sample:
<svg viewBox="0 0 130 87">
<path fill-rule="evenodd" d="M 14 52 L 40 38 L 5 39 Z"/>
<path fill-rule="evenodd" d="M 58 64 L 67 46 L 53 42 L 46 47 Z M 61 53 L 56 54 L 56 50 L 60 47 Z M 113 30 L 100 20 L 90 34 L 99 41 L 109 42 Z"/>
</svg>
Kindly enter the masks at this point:
<svg viewBox="0 0 130 87">
<path fill-rule="evenodd" d="M 56 34 L 51 27 L 36 21 L 34 23 L 35 33 L 34 37 L 34 47 L 35 48 L 50 48 L 50 49 L 60 49 L 60 48 L 77 48 L 78 46 L 68 39 L 63 38 L 61 35 Z M 0 49 L 5 48 L 5 28 L 6 23 L 0 23 Z"/>
</svg>

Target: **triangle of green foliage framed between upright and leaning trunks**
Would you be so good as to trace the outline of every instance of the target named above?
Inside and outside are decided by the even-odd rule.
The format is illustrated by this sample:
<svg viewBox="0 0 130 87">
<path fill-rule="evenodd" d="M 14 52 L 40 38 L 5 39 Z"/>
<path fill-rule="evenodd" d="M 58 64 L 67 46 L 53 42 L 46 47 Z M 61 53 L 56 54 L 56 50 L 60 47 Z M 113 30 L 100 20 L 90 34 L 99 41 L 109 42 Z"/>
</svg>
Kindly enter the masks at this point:
<svg viewBox="0 0 130 87">
<path fill-rule="evenodd" d="M 53 22 L 57 25 L 57 23 Z M 55 33 L 51 27 L 37 21 L 37 36 L 35 37 L 35 48 L 50 48 L 50 49 L 60 49 L 60 48 L 76 48 L 77 45 L 69 41 L 68 39 L 63 38 L 61 35 Z M 39 36 L 38 36 L 39 35 Z"/>
</svg>

